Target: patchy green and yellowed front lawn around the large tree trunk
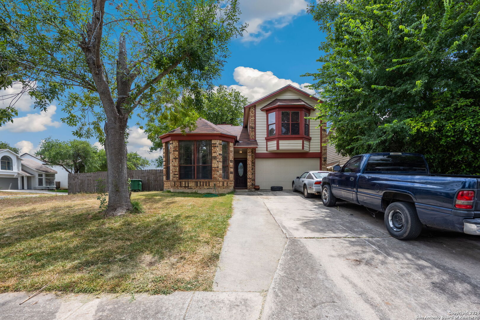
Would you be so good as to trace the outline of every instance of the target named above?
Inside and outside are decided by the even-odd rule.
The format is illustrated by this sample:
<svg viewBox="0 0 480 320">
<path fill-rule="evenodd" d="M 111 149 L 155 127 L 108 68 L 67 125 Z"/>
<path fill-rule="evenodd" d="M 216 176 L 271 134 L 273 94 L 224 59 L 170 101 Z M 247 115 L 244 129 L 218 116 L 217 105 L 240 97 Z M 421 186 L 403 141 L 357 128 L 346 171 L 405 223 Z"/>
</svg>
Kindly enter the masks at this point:
<svg viewBox="0 0 480 320">
<path fill-rule="evenodd" d="M 135 192 L 144 213 L 105 218 L 95 194 L 1 199 L 0 292 L 210 290 L 232 194 Z"/>
</svg>

